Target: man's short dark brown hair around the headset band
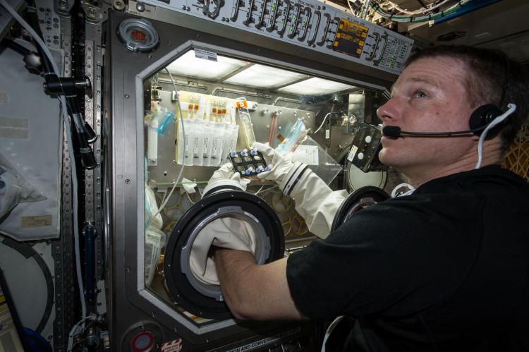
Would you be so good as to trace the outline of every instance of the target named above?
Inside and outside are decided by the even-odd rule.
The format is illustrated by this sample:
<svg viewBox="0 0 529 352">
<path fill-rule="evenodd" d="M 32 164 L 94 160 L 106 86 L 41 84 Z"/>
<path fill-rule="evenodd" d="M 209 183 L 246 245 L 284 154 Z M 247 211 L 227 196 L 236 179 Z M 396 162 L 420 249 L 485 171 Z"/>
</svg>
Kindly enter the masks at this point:
<svg viewBox="0 0 529 352">
<path fill-rule="evenodd" d="M 463 86 L 466 87 L 466 100 L 471 108 L 494 104 L 501 111 L 506 111 L 507 104 L 516 104 L 516 111 L 509 116 L 499 132 L 501 151 L 505 152 L 529 114 L 527 68 L 509 59 L 503 51 L 463 45 L 438 45 L 416 51 L 408 58 L 404 67 L 418 59 L 439 56 L 460 60 L 466 65 L 467 75 Z"/>
</svg>

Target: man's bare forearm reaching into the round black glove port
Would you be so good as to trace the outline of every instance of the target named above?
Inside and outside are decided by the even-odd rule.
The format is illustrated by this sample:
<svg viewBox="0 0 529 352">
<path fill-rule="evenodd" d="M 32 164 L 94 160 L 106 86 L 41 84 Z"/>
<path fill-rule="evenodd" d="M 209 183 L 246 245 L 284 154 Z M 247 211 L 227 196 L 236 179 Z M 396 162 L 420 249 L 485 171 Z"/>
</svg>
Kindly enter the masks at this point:
<svg viewBox="0 0 529 352">
<path fill-rule="evenodd" d="M 222 295 L 236 318 L 303 318 L 286 281 L 286 258 L 257 265 L 249 252 L 217 248 L 214 261 Z"/>
</svg>

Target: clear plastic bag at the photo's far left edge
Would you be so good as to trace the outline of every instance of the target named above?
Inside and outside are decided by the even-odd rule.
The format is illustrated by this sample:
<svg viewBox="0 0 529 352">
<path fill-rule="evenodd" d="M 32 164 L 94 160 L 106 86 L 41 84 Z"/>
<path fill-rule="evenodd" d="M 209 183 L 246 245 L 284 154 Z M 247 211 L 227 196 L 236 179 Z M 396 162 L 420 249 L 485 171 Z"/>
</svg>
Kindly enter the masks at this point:
<svg viewBox="0 0 529 352">
<path fill-rule="evenodd" d="M 39 202 L 45 199 L 47 198 L 44 194 L 25 181 L 22 174 L 0 153 L 0 219 L 18 203 Z"/>
</svg>

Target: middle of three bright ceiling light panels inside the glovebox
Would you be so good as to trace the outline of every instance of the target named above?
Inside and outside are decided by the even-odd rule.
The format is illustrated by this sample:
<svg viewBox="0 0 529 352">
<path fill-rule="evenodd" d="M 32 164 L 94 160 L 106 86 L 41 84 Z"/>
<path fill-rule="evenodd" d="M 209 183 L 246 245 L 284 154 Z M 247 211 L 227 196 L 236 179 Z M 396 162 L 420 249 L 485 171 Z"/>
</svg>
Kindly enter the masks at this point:
<svg viewBox="0 0 529 352">
<path fill-rule="evenodd" d="M 255 64 L 244 71 L 224 80 L 224 83 L 234 85 L 245 85 L 256 88 L 274 88 L 286 85 L 290 82 L 308 78 L 303 73 L 291 72 L 270 66 Z"/>
</svg>

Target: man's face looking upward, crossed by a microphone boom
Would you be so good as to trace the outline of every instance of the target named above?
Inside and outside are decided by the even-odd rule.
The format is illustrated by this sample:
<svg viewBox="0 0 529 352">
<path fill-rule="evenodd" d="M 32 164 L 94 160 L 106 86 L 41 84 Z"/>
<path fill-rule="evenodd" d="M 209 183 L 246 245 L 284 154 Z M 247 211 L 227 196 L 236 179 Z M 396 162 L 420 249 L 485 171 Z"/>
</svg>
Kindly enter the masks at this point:
<svg viewBox="0 0 529 352">
<path fill-rule="evenodd" d="M 456 59 L 434 57 L 411 63 L 396 80 L 391 99 L 377 109 L 383 126 L 402 131 L 445 132 L 468 130 L 473 109 L 463 86 L 464 64 Z M 469 135 L 459 137 L 382 138 L 380 160 L 406 176 L 439 171 L 461 162 L 475 142 Z"/>
</svg>

